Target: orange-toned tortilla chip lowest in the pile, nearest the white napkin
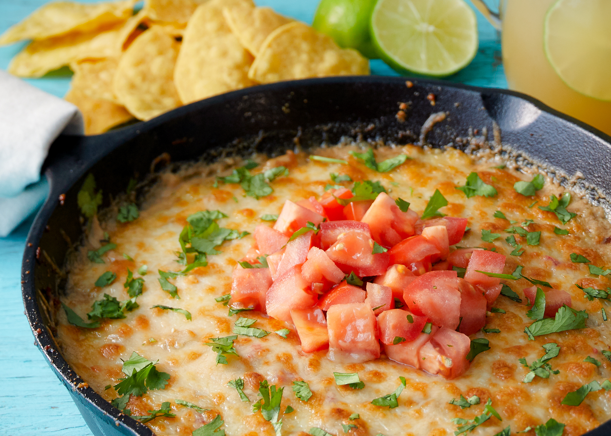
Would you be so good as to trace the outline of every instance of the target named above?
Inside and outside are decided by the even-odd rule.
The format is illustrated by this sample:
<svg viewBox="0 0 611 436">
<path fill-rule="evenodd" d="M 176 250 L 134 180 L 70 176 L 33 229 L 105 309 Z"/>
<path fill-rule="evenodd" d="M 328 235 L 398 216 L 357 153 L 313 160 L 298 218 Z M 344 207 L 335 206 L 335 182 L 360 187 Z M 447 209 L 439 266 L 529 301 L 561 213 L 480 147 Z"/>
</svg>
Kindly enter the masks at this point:
<svg viewBox="0 0 611 436">
<path fill-rule="evenodd" d="M 98 100 L 86 96 L 82 90 L 72 88 L 64 99 L 75 104 L 82 112 L 85 122 L 85 134 L 97 135 L 108 129 L 128 122 L 134 117 L 125 107 L 108 100 Z"/>
</svg>

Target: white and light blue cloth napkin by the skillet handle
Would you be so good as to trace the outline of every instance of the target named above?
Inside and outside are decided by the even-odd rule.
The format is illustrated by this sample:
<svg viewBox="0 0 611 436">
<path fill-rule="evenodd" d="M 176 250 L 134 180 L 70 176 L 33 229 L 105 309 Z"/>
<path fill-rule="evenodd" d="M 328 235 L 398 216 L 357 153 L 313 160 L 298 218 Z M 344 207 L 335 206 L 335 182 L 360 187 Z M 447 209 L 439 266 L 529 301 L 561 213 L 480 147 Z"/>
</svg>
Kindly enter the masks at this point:
<svg viewBox="0 0 611 436">
<path fill-rule="evenodd" d="M 0 70 L 0 237 L 44 202 L 40 169 L 60 133 L 83 133 L 78 108 Z"/>
</svg>

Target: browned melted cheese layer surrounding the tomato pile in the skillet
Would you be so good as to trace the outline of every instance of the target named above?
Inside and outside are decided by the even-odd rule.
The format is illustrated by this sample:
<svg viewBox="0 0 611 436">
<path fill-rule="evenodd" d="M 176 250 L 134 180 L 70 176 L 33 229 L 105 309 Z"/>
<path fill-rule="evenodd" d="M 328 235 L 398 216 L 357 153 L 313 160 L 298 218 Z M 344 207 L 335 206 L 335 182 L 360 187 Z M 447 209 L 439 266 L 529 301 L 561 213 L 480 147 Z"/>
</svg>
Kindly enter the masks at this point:
<svg viewBox="0 0 611 436">
<path fill-rule="evenodd" d="M 591 380 L 602 382 L 611 376 L 611 362 L 599 350 L 608 350 L 611 331 L 608 322 L 602 321 L 599 299 L 588 301 L 574 283 L 606 289 L 609 280 L 588 275 L 585 264 L 571 263 L 569 253 L 585 255 L 598 266 L 611 265 L 609 245 L 604 241 L 611 234 L 609 222 L 600 208 L 588 205 L 574 195 L 569 211 L 576 218 L 562 225 L 551 212 L 541 211 L 536 206 L 546 205 L 549 195 L 563 192 L 560 186 L 546 181 L 546 186 L 534 197 L 517 194 L 513 184 L 518 180 L 530 180 L 530 175 L 514 170 L 493 167 L 500 162 L 480 160 L 456 150 L 427 150 L 414 146 L 381 148 L 376 151 L 378 161 L 398 153 L 406 153 L 409 159 L 389 173 L 374 172 L 354 158 L 348 156 L 353 146 L 337 146 L 318 150 L 335 158 L 348 159 L 349 165 L 310 162 L 305 155 L 288 154 L 271 159 L 263 168 L 285 165 L 290 174 L 273 181 L 274 192 L 268 197 L 255 200 L 244 197 L 238 184 L 220 184 L 213 187 L 216 167 L 190 167 L 181 174 L 163 176 L 154 194 L 142 207 L 141 215 L 134 222 L 119 224 L 114 220 L 103 222 L 111 241 L 117 249 L 104 256 L 105 264 L 91 263 L 86 252 L 99 246 L 95 237 L 90 237 L 87 246 L 81 248 L 70 264 L 67 293 L 64 303 L 86 319 L 95 300 L 104 293 L 127 299 L 123 282 L 127 268 L 131 271 L 146 264 L 148 274 L 144 278 L 144 292 L 138 297 L 140 307 L 126 314 L 125 319 L 106 319 L 98 329 L 80 329 L 67 323 L 65 314 L 57 314 L 59 328 L 57 336 L 65 358 L 90 387 L 104 398 L 116 398 L 114 390 L 104 390 L 106 385 L 116 384 L 123 374 L 122 360 L 133 351 L 148 358 L 159 360 L 159 371 L 170 374 L 165 390 L 148 391 L 141 398 L 133 397 L 128 403 L 133 415 L 147 415 L 147 410 L 158 409 L 163 401 L 172 402 L 175 418 L 157 418 L 147 425 L 158 435 L 191 435 L 194 429 L 208 423 L 216 415 L 225 421 L 225 433 L 234 435 L 273 435 L 274 430 L 261 413 L 252 413 L 252 402 L 242 402 L 235 389 L 227 382 L 243 377 L 244 393 L 257 401 L 258 382 L 267 379 L 270 385 L 284 387 L 282 410 L 291 405 L 295 412 L 282 416 L 283 434 L 309 431 L 321 427 L 325 431 L 342 435 L 341 424 L 356 424 L 351 435 L 452 435 L 456 425 L 450 421 L 461 417 L 472 419 L 483 413 L 483 404 L 488 398 L 502 416 L 503 421 L 491 418 L 474 435 L 490 436 L 510 426 L 512 432 L 527 426 L 545 423 L 549 418 L 565 423 L 565 436 L 576 436 L 593 429 L 611 416 L 611 391 L 604 390 L 588 394 L 578 407 L 562 405 L 566 392 L 579 388 Z M 263 162 L 263 160 L 261 159 Z M 227 168 L 229 165 L 225 165 Z M 261 168 L 261 167 L 259 167 Z M 472 171 L 496 187 L 499 195 L 493 198 L 466 198 L 455 189 L 462 186 Z M 257 172 L 257 169 L 253 170 Z M 516 265 L 524 266 L 522 274 L 550 282 L 555 288 L 565 289 L 573 299 L 573 307 L 587 310 L 590 318 L 587 329 L 571 330 L 538 336 L 529 341 L 523 333 L 532 321 L 527 318 L 527 307 L 500 296 L 495 304 L 507 313 L 488 314 L 489 329 L 500 329 L 501 333 L 477 333 L 471 338 L 485 337 L 491 349 L 478 355 L 469 370 L 458 379 L 447 381 L 431 376 L 408 366 L 390 361 L 385 355 L 362 364 L 342 365 L 326 358 L 326 351 L 305 354 L 293 326 L 249 312 L 248 318 L 256 318 L 259 327 L 268 331 L 285 327 L 291 330 L 287 339 L 274 333 L 264 338 L 239 336 L 235 348 L 239 357 L 228 357 L 229 365 L 215 365 L 216 354 L 205 346 L 208 338 L 232 334 L 233 322 L 238 316 L 227 316 L 227 307 L 214 301 L 214 297 L 227 294 L 231 286 L 231 274 L 236 261 L 241 259 L 254 241 L 252 235 L 222 244 L 219 255 L 209 256 L 207 267 L 194 269 L 186 277 L 174 280 L 180 299 L 172 299 L 159 286 L 158 269 L 177 271 L 176 252 L 180 250 L 178 234 L 186 224 L 186 217 L 203 209 L 219 209 L 228 218 L 219 220 L 221 227 L 246 230 L 252 233 L 261 223 L 263 214 L 278 214 L 287 198 L 299 200 L 310 195 L 320 197 L 324 186 L 332 183 L 329 173 L 347 173 L 353 180 L 379 180 L 393 198 L 401 197 L 411 203 L 411 208 L 421 214 L 428 198 L 439 189 L 449 204 L 442 211 L 450 216 L 467 217 L 470 231 L 459 244 L 465 247 L 497 247 L 507 255 L 505 273 L 511 273 Z M 224 170 L 221 175 L 230 173 Z M 211 175 L 212 174 L 212 175 Z M 538 201 L 536 206 L 529 207 Z M 541 231 L 541 243 L 525 245 L 522 256 L 510 256 L 513 250 L 503 241 L 510 227 L 507 220 L 492 217 L 500 210 L 508 219 L 521 222 L 532 219 L 530 231 Z M 558 236 L 554 227 L 567 228 L 570 234 Z M 502 234 L 494 243 L 481 240 L 481 230 L 492 230 Z M 518 235 L 516 235 L 516 238 Z M 97 244 L 97 245 L 95 245 Z M 125 260 L 127 253 L 135 263 Z M 93 284 L 104 271 L 113 271 L 117 280 L 111 286 L 97 288 Z M 512 282 L 510 286 L 523 297 L 522 289 L 530 286 L 525 280 Z M 192 321 L 173 311 L 151 309 L 153 305 L 167 305 L 191 312 Z M 608 311 L 611 316 L 611 310 Z M 562 351 L 551 363 L 560 374 L 549 379 L 535 377 L 532 383 L 522 383 L 529 369 L 518 359 L 525 357 L 529 363 L 544 354 L 541 345 L 557 342 Z M 584 362 L 588 355 L 597 358 L 602 366 Z M 335 385 L 333 372 L 358 372 L 365 382 L 362 390 Z M 407 379 L 406 389 L 399 398 L 399 407 L 388 409 L 371 405 L 371 400 L 392 393 L 399 385 L 399 376 Z M 313 396 L 308 402 L 300 401 L 291 390 L 294 380 L 309 383 Z M 477 394 L 481 404 L 461 410 L 448 404 L 452 398 L 466 398 Z M 175 399 L 194 402 L 210 409 L 198 413 L 175 404 Z M 349 421 L 348 416 L 359 413 L 360 419 Z M 527 435 L 533 435 L 530 431 Z"/>
</svg>

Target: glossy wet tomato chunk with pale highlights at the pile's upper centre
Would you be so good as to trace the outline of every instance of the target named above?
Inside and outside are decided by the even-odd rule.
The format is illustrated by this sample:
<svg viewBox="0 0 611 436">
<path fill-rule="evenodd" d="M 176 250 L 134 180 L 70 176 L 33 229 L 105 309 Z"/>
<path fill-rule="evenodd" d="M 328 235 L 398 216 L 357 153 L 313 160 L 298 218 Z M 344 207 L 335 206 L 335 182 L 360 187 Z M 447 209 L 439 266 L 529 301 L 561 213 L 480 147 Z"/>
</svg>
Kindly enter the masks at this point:
<svg viewBox="0 0 611 436">
<path fill-rule="evenodd" d="M 350 230 L 326 251 L 329 259 L 349 274 L 379 275 L 388 267 L 388 252 L 373 254 L 373 239 L 362 231 Z"/>
</svg>

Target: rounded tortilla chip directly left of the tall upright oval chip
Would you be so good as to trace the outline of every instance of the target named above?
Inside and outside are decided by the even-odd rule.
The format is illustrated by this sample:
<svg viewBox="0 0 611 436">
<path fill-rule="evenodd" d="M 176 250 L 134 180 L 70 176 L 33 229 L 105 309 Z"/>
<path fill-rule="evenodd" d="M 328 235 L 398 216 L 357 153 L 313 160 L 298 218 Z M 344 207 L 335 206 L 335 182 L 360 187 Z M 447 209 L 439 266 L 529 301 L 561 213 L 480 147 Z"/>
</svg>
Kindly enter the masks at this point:
<svg viewBox="0 0 611 436">
<path fill-rule="evenodd" d="M 150 120 L 181 106 L 174 86 L 180 43 L 158 26 L 136 38 L 123 54 L 112 89 L 139 120 Z"/>
</svg>

